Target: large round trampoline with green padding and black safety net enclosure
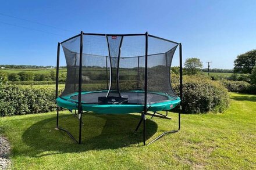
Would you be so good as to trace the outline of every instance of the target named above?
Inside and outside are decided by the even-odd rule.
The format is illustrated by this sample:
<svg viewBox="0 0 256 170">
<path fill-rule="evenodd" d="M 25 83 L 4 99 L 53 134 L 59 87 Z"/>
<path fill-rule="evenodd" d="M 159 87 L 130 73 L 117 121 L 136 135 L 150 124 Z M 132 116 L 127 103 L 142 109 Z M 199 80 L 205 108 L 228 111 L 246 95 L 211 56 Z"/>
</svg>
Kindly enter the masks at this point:
<svg viewBox="0 0 256 170">
<path fill-rule="evenodd" d="M 62 46 L 66 59 L 65 89 L 58 94 L 59 58 Z M 170 67 L 179 46 L 180 96 L 173 91 Z M 178 128 L 182 111 L 182 45 L 145 34 L 88 34 L 81 32 L 58 43 L 56 66 L 56 128 L 81 143 L 82 115 L 140 113 L 143 143 L 146 140 L 146 116 L 166 118 L 168 111 L 179 107 Z M 79 118 L 79 140 L 59 126 L 59 108 L 66 108 Z M 165 111 L 166 114 L 159 113 Z M 148 143 L 148 144 L 150 144 Z"/>
</svg>

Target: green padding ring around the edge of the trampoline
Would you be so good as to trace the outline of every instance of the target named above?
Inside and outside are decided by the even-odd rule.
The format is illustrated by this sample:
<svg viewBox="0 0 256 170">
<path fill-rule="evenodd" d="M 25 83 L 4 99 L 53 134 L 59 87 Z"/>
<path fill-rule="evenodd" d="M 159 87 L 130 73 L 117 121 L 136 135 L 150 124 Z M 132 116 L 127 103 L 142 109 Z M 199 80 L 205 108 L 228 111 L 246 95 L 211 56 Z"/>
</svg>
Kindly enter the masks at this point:
<svg viewBox="0 0 256 170">
<path fill-rule="evenodd" d="M 93 91 L 93 92 L 81 92 L 81 94 L 86 93 L 97 93 L 106 91 Z M 129 91 L 136 93 L 144 93 L 144 91 Z M 148 104 L 148 111 L 165 111 L 175 108 L 180 103 L 180 97 L 171 97 L 166 95 L 166 93 L 161 92 L 150 92 L 158 93 L 159 95 L 168 96 L 170 100 L 165 102 Z M 58 97 L 56 103 L 59 107 L 64 107 L 69 110 L 77 110 L 77 100 L 71 99 L 72 96 L 78 95 L 78 93 L 72 93 L 72 95 Z M 93 111 L 98 114 L 127 114 L 127 113 L 141 113 L 144 110 L 144 104 L 84 104 L 82 103 L 83 111 Z"/>
</svg>

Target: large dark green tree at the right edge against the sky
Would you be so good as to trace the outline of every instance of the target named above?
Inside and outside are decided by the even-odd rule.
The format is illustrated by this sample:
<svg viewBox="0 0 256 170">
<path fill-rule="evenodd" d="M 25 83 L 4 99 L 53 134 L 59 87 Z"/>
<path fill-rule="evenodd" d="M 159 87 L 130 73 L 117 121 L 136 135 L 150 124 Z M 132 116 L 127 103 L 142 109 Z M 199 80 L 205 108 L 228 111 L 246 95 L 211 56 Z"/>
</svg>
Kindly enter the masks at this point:
<svg viewBox="0 0 256 170">
<path fill-rule="evenodd" d="M 256 61 L 256 49 L 250 50 L 236 57 L 234 60 L 234 73 L 251 74 Z"/>
</svg>

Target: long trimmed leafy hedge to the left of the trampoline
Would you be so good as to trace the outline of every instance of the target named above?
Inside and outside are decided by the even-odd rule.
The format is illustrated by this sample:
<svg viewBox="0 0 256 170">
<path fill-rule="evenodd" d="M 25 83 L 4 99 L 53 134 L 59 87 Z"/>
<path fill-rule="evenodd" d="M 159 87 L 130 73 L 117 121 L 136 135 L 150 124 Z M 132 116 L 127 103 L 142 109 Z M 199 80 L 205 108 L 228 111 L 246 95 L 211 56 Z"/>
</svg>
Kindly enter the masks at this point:
<svg viewBox="0 0 256 170">
<path fill-rule="evenodd" d="M 0 115 L 20 115 L 54 111 L 55 90 L 17 85 L 0 86 Z"/>
</svg>

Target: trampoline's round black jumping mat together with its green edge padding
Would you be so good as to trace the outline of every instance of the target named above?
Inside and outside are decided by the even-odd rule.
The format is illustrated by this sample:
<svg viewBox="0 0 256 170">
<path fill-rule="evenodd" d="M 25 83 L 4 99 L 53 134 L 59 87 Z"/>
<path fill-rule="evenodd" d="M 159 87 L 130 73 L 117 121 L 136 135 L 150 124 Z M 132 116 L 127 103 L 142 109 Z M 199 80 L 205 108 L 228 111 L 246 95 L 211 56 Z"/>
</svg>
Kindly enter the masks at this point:
<svg viewBox="0 0 256 170">
<path fill-rule="evenodd" d="M 93 111 L 99 114 L 127 114 L 141 113 L 144 108 L 144 91 L 120 92 L 120 100 L 116 97 L 109 97 L 109 100 L 102 102 L 107 91 L 81 92 L 81 106 L 83 110 Z M 118 94 L 116 94 L 118 97 Z M 58 106 L 69 110 L 76 110 L 78 104 L 78 93 L 65 97 L 58 97 Z M 148 92 L 148 111 L 170 110 L 180 103 L 179 97 L 169 96 L 165 93 Z"/>
</svg>

